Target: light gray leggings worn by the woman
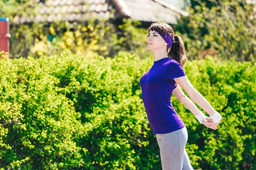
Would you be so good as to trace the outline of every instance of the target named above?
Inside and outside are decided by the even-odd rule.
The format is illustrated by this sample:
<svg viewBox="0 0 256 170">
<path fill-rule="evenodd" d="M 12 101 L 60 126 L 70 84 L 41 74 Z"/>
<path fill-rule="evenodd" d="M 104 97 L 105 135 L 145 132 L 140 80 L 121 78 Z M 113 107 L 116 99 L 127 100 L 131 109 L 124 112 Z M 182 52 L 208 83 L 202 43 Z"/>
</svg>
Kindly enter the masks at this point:
<svg viewBox="0 0 256 170">
<path fill-rule="evenodd" d="M 170 133 L 156 134 L 156 137 L 163 170 L 193 170 L 185 150 L 186 126 Z"/>
</svg>

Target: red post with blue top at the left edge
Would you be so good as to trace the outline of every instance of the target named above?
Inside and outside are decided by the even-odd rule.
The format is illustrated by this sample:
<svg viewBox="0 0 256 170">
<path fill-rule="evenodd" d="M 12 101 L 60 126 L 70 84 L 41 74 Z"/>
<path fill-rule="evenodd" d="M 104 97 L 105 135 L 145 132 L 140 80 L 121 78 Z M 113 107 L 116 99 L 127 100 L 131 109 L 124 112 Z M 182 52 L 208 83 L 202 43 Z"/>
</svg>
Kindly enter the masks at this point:
<svg viewBox="0 0 256 170">
<path fill-rule="evenodd" d="M 11 34 L 9 34 L 9 19 L 0 18 L 0 51 L 8 52 L 8 58 L 10 58 L 10 38 Z"/>
</svg>

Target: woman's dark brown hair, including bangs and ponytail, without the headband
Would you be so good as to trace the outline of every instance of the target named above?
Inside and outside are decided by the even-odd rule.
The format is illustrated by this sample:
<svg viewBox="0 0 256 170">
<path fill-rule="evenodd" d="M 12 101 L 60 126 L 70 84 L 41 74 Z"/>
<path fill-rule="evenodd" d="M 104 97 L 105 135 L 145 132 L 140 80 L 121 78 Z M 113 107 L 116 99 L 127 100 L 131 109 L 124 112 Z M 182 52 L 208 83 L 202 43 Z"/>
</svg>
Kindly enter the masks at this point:
<svg viewBox="0 0 256 170">
<path fill-rule="evenodd" d="M 187 60 L 186 54 L 185 54 L 185 46 L 182 38 L 178 35 L 174 34 L 174 31 L 171 26 L 169 26 L 166 23 L 152 23 L 151 26 L 148 28 L 148 33 L 150 30 L 157 31 L 160 34 L 170 34 L 172 37 L 172 45 L 170 47 L 170 50 L 167 49 L 168 52 L 168 57 L 171 59 L 175 59 L 177 62 L 180 63 L 182 68 L 185 67 L 185 62 Z"/>
</svg>

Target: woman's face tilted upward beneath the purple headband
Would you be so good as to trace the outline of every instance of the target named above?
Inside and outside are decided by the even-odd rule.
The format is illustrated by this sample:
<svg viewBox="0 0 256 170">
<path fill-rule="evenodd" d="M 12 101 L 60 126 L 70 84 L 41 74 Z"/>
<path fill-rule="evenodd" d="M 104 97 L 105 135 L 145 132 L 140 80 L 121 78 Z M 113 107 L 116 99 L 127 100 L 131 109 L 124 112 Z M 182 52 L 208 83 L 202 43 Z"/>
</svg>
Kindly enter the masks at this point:
<svg viewBox="0 0 256 170">
<path fill-rule="evenodd" d="M 157 49 L 165 49 L 167 43 L 156 31 L 149 31 L 148 33 L 148 49 L 151 51 Z"/>
</svg>

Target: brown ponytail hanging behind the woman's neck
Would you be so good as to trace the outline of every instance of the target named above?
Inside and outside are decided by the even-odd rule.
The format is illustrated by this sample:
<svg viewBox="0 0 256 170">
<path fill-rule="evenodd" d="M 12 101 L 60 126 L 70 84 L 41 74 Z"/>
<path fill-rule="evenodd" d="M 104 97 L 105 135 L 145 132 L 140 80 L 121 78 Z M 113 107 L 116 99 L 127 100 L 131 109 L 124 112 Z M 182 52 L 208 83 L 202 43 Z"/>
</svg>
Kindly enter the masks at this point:
<svg viewBox="0 0 256 170">
<path fill-rule="evenodd" d="M 175 59 L 177 62 L 179 62 L 182 68 L 184 68 L 185 62 L 187 60 L 184 42 L 182 38 L 178 35 L 174 35 L 173 37 L 173 44 L 167 55 L 171 59 Z"/>
</svg>

